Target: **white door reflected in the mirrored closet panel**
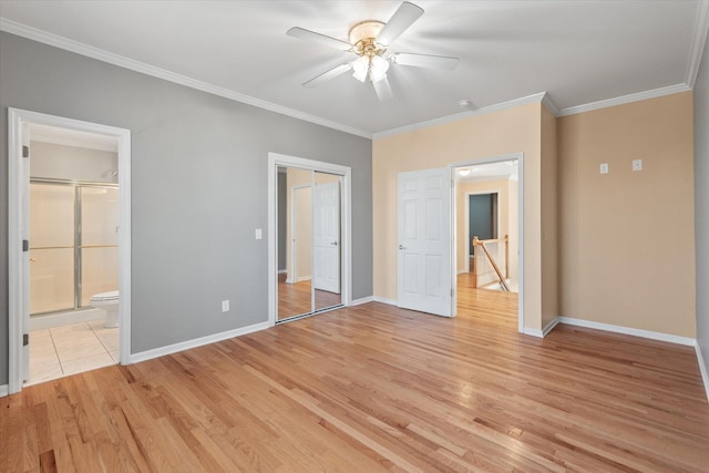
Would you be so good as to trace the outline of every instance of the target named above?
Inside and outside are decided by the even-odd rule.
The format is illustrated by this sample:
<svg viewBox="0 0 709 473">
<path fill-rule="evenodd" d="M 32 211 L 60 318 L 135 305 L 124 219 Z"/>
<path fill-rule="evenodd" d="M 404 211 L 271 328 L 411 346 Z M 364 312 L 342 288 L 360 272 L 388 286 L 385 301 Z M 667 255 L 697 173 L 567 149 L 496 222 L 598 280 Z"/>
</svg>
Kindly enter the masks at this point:
<svg viewBox="0 0 709 473">
<path fill-rule="evenodd" d="M 312 287 L 340 294 L 340 183 L 312 194 Z"/>
</svg>

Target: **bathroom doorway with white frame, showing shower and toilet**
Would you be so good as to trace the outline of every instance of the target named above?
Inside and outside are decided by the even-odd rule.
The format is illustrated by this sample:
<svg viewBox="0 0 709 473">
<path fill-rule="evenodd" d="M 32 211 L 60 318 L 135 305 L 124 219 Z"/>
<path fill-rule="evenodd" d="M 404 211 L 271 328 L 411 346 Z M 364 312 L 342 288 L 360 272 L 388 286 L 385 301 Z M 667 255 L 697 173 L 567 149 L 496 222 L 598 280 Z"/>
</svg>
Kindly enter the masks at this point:
<svg viewBox="0 0 709 473">
<path fill-rule="evenodd" d="M 9 115 L 12 393 L 127 362 L 130 132 Z"/>
</svg>

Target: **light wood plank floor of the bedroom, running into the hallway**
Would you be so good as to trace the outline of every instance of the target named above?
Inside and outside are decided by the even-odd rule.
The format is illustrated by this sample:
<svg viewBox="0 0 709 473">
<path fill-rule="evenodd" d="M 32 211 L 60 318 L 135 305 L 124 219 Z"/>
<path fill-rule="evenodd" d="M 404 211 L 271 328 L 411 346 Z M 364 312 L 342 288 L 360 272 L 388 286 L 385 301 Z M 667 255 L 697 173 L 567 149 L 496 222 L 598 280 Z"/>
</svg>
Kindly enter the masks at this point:
<svg viewBox="0 0 709 473">
<path fill-rule="evenodd" d="M 707 472 L 693 349 L 366 304 L 0 399 L 0 470 Z"/>
</svg>

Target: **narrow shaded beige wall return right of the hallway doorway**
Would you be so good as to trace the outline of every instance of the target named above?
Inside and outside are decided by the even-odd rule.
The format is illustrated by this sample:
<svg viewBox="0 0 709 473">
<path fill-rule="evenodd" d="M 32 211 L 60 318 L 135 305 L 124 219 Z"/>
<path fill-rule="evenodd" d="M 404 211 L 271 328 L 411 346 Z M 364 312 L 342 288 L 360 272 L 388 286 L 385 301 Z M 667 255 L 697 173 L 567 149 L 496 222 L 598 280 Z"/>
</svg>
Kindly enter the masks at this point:
<svg viewBox="0 0 709 473">
<path fill-rule="evenodd" d="M 558 173 L 556 116 L 542 107 L 542 327 L 558 316 Z"/>
</svg>

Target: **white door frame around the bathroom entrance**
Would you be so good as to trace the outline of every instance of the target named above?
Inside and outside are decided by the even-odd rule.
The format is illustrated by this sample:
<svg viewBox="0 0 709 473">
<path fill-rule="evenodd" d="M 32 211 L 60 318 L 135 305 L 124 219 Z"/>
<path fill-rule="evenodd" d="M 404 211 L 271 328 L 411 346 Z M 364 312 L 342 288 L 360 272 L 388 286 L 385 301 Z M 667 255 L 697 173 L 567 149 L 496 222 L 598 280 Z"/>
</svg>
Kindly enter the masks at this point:
<svg viewBox="0 0 709 473">
<path fill-rule="evenodd" d="M 28 251 L 22 251 L 25 219 L 23 191 L 25 168 L 22 158 L 24 138 L 23 125 L 49 125 L 74 131 L 102 134 L 114 137 L 119 155 L 119 306 L 121 364 L 129 364 L 131 357 L 131 131 L 99 123 L 84 122 L 56 115 L 48 115 L 21 109 L 8 109 L 8 292 L 9 292 L 9 379 L 10 394 L 22 390 L 22 333 L 23 317 L 29 302 L 23 289 L 29 288 L 29 270 L 25 260 Z M 28 289 L 29 290 L 29 289 Z"/>
</svg>

